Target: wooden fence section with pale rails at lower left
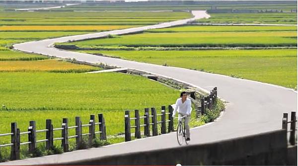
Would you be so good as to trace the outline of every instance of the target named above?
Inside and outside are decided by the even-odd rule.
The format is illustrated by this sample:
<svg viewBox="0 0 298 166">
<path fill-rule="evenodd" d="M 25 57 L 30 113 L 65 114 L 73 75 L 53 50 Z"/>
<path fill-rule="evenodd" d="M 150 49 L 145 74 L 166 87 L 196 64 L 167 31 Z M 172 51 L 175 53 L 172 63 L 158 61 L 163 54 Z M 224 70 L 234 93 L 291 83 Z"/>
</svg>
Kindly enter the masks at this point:
<svg viewBox="0 0 298 166">
<path fill-rule="evenodd" d="M 99 131 L 95 131 L 95 125 L 99 126 Z M 82 127 L 89 127 L 88 133 L 82 133 Z M 69 136 L 69 129 L 75 128 L 75 135 Z M 61 130 L 61 137 L 54 138 L 54 131 Z M 36 133 L 46 132 L 46 139 L 37 140 Z M 105 128 L 105 119 L 102 113 L 98 114 L 98 122 L 95 122 L 95 115 L 90 115 L 90 120 L 88 124 L 82 124 L 80 117 L 75 117 L 75 126 L 68 125 L 68 118 L 63 118 L 62 126 L 60 128 L 54 128 L 51 119 L 46 120 L 46 129 L 36 130 L 35 121 L 29 122 L 28 131 L 20 132 L 20 129 L 17 128 L 17 124 L 11 123 L 11 132 L 0 134 L 1 136 L 11 136 L 11 142 L 9 144 L 0 145 L 1 147 L 11 147 L 10 151 L 10 160 L 20 159 L 20 145 L 28 145 L 29 152 L 33 153 L 36 149 L 36 144 L 39 142 L 46 142 L 46 149 L 53 149 L 53 142 L 56 140 L 61 140 L 61 147 L 64 152 L 69 151 L 69 139 L 75 138 L 76 149 L 80 149 L 83 144 L 82 136 L 88 135 L 88 145 L 92 145 L 92 140 L 95 138 L 95 134 L 100 133 L 100 139 L 106 140 L 106 128 Z M 20 137 L 22 135 L 28 135 L 28 142 L 20 142 Z M 1 151 L 0 151 L 1 152 Z M 1 155 L 1 153 L 0 153 Z"/>
</svg>

